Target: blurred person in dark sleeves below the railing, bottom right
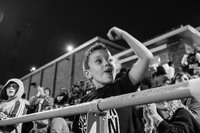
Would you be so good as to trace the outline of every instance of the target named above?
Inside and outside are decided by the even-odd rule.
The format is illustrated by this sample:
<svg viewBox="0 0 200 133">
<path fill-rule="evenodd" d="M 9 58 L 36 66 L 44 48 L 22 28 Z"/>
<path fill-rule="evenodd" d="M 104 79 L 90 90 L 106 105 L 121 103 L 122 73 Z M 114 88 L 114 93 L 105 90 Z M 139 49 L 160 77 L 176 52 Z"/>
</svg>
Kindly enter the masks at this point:
<svg viewBox="0 0 200 133">
<path fill-rule="evenodd" d="M 199 133 L 200 124 L 181 100 L 148 104 L 146 133 Z"/>
</svg>

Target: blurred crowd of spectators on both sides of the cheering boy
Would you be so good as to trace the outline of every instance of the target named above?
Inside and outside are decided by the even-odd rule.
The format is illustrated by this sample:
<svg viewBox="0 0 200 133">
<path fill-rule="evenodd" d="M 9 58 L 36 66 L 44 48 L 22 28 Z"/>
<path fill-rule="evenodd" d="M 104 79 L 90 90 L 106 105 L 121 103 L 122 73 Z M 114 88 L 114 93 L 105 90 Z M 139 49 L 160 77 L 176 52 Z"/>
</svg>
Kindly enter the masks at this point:
<svg viewBox="0 0 200 133">
<path fill-rule="evenodd" d="M 172 62 L 170 62 L 171 64 Z M 180 66 L 182 67 L 182 66 Z M 179 68 L 180 68 L 179 67 Z M 175 70 L 175 69 L 174 69 Z M 141 81 L 138 90 L 151 89 L 163 85 L 185 82 L 194 78 L 199 78 L 197 74 L 189 74 L 187 71 L 173 72 L 169 77 L 167 69 L 159 65 L 151 75 L 146 76 Z M 183 69 L 184 70 L 184 69 Z M 116 79 L 122 78 L 128 70 L 122 68 L 116 75 Z M 35 84 L 34 84 L 35 85 Z M 36 113 L 44 110 L 62 108 L 78 104 L 80 99 L 95 90 L 95 87 L 88 82 L 79 81 L 72 85 L 71 89 L 60 88 L 60 93 L 54 98 L 51 97 L 51 89 L 48 87 L 34 86 L 37 93 L 30 98 L 25 99 L 25 93 L 21 96 L 25 103 L 25 113 Z M 200 130 L 200 102 L 195 98 L 185 98 L 172 101 L 163 101 L 148 105 L 136 106 L 133 111 L 138 113 L 140 124 L 138 124 L 139 133 L 147 132 L 171 132 L 172 130 Z M 181 118 L 180 116 L 187 116 Z M 177 120 L 176 118 L 180 118 Z M 172 119 L 173 118 L 173 119 Z M 52 119 L 25 122 L 22 125 L 22 133 L 58 133 L 61 131 L 71 132 L 74 116 L 58 117 Z M 178 124 L 177 124 L 178 123 Z M 170 124 L 170 126 L 169 126 Z M 184 125 L 184 128 L 178 128 Z M 191 131 L 190 131 L 191 130 Z"/>
</svg>

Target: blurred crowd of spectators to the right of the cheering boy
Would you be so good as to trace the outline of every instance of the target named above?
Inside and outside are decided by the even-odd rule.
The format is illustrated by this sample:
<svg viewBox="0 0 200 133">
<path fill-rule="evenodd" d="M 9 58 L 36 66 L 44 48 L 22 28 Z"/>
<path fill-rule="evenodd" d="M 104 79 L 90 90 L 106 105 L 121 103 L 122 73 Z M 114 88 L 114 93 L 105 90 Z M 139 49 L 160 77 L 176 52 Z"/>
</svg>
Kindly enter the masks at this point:
<svg viewBox="0 0 200 133">
<path fill-rule="evenodd" d="M 170 61 L 170 64 L 172 63 Z M 173 72 L 174 75 L 169 77 L 167 69 L 159 65 L 150 77 L 146 76 L 143 79 L 140 89 L 153 89 L 200 78 L 198 72 L 189 73 L 191 69 L 183 69 L 184 67 L 186 66 L 181 64 L 178 71 Z M 145 133 L 200 132 L 200 102 L 193 97 L 144 105 L 142 114 Z"/>
</svg>

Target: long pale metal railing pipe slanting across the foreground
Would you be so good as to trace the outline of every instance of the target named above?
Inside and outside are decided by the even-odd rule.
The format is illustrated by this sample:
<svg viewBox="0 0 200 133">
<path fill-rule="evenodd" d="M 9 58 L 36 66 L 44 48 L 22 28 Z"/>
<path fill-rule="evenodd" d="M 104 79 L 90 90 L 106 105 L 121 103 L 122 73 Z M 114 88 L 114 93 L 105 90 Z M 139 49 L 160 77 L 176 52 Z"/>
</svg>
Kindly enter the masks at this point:
<svg viewBox="0 0 200 133">
<path fill-rule="evenodd" d="M 10 118 L 0 121 L 0 126 L 87 112 L 100 113 L 108 109 L 117 109 L 186 97 L 195 97 L 200 101 L 200 78 L 192 79 L 185 83 L 167 85 L 105 99 L 97 99 L 87 103 Z"/>
</svg>

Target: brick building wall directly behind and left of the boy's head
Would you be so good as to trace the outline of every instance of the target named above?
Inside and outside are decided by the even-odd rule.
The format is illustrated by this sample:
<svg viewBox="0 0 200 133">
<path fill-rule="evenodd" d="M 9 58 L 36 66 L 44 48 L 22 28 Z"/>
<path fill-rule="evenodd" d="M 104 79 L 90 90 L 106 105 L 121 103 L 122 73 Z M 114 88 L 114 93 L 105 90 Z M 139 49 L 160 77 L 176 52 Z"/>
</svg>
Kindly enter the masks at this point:
<svg viewBox="0 0 200 133">
<path fill-rule="evenodd" d="M 78 51 L 53 62 L 51 65 L 42 67 L 39 71 L 31 73 L 28 76 L 25 76 L 25 78 L 22 78 L 25 85 L 27 99 L 30 99 L 37 93 L 37 89 L 30 86 L 33 82 L 43 87 L 49 87 L 52 92 L 52 97 L 59 94 L 61 87 L 71 89 L 73 83 L 77 81 L 84 80 L 88 82 L 82 71 L 82 61 L 85 51 L 96 42 L 104 43 L 110 50 L 111 54 L 117 54 L 124 49 L 118 47 L 117 44 L 97 38 Z"/>
</svg>

